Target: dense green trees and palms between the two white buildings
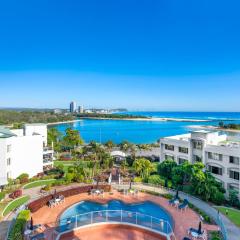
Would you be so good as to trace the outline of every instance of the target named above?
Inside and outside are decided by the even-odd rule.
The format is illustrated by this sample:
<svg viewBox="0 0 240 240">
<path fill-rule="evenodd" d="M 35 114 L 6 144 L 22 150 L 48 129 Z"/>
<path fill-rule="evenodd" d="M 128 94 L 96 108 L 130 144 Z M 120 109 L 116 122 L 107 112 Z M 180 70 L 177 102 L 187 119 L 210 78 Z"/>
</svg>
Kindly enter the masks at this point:
<svg viewBox="0 0 240 240">
<path fill-rule="evenodd" d="M 108 141 L 104 145 L 91 142 L 81 146 L 82 140 L 79 133 L 70 129 L 66 130 L 66 135 L 61 138 L 56 129 L 49 130 L 49 141 L 53 141 L 57 145 L 67 145 L 72 149 L 71 160 L 75 160 L 74 164 L 72 166 L 58 165 L 58 168 L 67 172 L 65 174 L 67 182 L 89 182 L 97 176 L 107 175 L 113 166 L 114 160 L 109 152 L 116 145 L 112 141 Z M 215 204 L 222 204 L 225 201 L 224 188 L 210 172 L 204 171 L 204 164 L 185 162 L 177 165 L 172 160 L 166 160 L 160 164 L 152 163 L 149 159 L 136 157 L 136 151 L 139 148 L 148 149 L 150 146 L 138 146 L 124 141 L 117 147 L 128 153 L 128 157 L 121 162 L 120 166 L 121 175 L 125 177 L 126 181 L 133 178 L 135 182 L 172 187 Z M 230 194 L 229 204 L 236 205 L 238 202 L 237 195 Z"/>
</svg>

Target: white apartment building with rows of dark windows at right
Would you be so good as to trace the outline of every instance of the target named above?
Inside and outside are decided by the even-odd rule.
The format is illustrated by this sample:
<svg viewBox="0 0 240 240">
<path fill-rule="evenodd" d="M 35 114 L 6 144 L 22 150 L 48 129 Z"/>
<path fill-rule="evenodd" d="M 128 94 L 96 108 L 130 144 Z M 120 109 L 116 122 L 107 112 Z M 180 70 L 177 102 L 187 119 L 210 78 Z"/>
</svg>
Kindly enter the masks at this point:
<svg viewBox="0 0 240 240">
<path fill-rule="evenodd" d="M 240 197 L 240 139 L 203 130 L 165 137 L 160 140 L 160 161 L 166 159 L 203 162 L 227 192 L 235 189 Z"/>
</svg>

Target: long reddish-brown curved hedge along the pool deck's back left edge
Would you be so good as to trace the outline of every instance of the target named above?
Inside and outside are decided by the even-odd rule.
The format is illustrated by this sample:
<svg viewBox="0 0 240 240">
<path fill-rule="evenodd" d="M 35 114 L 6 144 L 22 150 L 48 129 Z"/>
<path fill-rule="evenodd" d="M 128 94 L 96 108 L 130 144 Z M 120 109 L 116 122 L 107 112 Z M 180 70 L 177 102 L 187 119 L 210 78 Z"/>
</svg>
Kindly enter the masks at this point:
<svg viewBox="0 0 240 240">
<path fill-rule="evenodd" d="M 96 185 L 87 185 L 87 186 L 80 186 L 76 188 L 71 188 L 67 189 L 64 191 L 57 192 L 57 195 L 63 195 L 64 197 L 70 197 L 74 195 L 78 195 L 80 193 L 86 193 L 90 192 L 92 189 L 95 189 Z M 99 189 L 103 189 L 105 192 L 110 192 L 111 191 L 111 186 L 110 185 L 98 185 Z M 49 200 L 51 200 L 54 197 L 53 194 L 50 194 L 46 197 L 37 199 L 30 204 L 28 204 L 28 209 L 34 213 L 38 211 L 40 208 L 44 207 Z"/>
</svg>

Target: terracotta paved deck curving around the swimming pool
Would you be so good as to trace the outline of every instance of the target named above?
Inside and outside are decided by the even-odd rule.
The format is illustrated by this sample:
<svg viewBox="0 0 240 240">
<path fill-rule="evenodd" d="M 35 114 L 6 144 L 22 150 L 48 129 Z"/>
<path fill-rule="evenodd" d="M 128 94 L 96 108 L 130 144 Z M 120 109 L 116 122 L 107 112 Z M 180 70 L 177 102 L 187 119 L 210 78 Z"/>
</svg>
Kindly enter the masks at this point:
<svg viewBox="0 0 240 240">
<path fill-rule="evenodd" d="M 50 237 L 51 231 L 56 226 L 57 219 L 67 208 L 69 208 L 73 204 L 78 203 L 80 201 L 84 201 L 84 200 L 91 200 L 91 201 L 96 201 L 99 203 L 106 203 L 109 200 L 113 200 L 113 199 L 121 200 L 125 203 L 137 203 L 137 202 L 142 202 L 142 201 L 152 201 L 156 204 L 159 204 L 166 211 L 168 211 L 171 214 L 172 218 L 174 219 L 174 234 L 175 234 L 175 237 L 177 240 L 182 240 L 183 237 L 187 236 L 187 230 L 190 227 L 197 228 L 199 221 L 200 221 L 200 216 L 193 210 L 187 209 L 186 211 L 179 211 L 177 208 L 170 206 L 168 204 L 168 200 L 163 197 L 154 196 L 154 195 L 150 195 L 150 194 L 142 193 L 142 192 L 139 192 L 139 194 L 137 196 L 123 195 L 122 193 L 119 193 L 115 190 L 113 191 L 113 194 L 105 193 L 103 197 L 102 196 L 90 196 L 89 194 L 86 194 L 86 193 L 71 196 L 71 197 L 66 198 L 64 203 L 56 206 L 55 208 L 49 208 L 47 206 L 44 206 L 43 208 L 39 209 L 37 212 L 33 213 L 32 217 L 34 220 L 34 224 L 43 224 L 43 225 L 47 226 L 48 230 L 46 231 L 46 235 L 49 236 L 48 239 L 51 240 L 52 239 L 52 237 Z M 151 213 L 149 213 L 149 215 L 151 215 Z M 215 231 L 215 230 L 218 230 L 219 228 L 216 225 L 203 224 L 203 229 L 206 231 L 212 231 L 212 230 Z M 96 230 L 96 232 L 98 232 L 98 235 L 100 234 L 99 230 Z M 125 231 L 125 232 L 127 234 L 130 234 L 129 231 Z M 94 233 L 94 231 L 91 230 L 91 234 L 93 234 L 93 233 Z M 81 235 L 81 238 L 76 238 L 76 239 L 81 239 L 81 240 L 82 239 L 84 239 L 84 240 L 90 240 L 90 239 L 95 240 L 96 239 L 94 237 L 93 238 L 82 238 L 81 231 L 79 232 L 79 234 Z M 142 238 L 141 238 L 140 235 L 138 235 L 138 238 L 133 238 L 133 240 L 148 239 L 148 238 L 144 237 L 144 235 L 141 235 L 142 236 Z M 91 235 L 88 235 L 88 236 L 90 237 Z M 125 235 L 125 237 L 126 236 L 127 235 Z M 116 237 L 116 234 L 114 233 L 114 231 L 112 231 L 112 237 L 113 238 L 105 238 L 105 239 L 114 239 L 114 237 Z M 74 239 L 74 238 L 72 238 L 72 239 Z M 98 238 L 98 239 L 100 239 L 100 238 Z M 102 239 L 104 239 L 104 238 L 102 238 Z M 116 238 L 116 239 L 118 240 L 120 238 Z M 123 238 L 123 239 L 132 239 L 132 238 L 127 237 L 127 238 Z"/>
</svg>

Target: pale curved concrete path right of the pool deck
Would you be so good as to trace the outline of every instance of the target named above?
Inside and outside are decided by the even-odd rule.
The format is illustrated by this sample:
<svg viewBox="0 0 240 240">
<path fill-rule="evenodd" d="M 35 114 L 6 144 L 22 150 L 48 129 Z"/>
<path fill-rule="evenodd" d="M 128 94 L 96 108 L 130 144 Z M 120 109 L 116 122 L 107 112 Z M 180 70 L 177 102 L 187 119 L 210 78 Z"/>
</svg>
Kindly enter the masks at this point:
<svg viewBox="0 0 240 240">
<path fill-rule="evenodd" d="M 173 193 L 174 194 L 175 193 L 171 190 L 166 190 L 164 188 L 158 188 L 158 187 L 153 187 L 153 186 L 144 185 L 144 184 L 137 184 L 137 185 L 134 185 L 134 187 L 143 189 L 146 191 L 153 191 L 153 192 L 160 193 L 160 194 L 164 194 L 164 193 Z M 240 239 L 240 228 L 238 228 L 236 225 L 234 225 L 223 214 L 221 214 L 221 213 L 218 214 L 218 211 L 215 208 L 213 208 L 211 205 L 209 205 L 208 203 L 206 203 L 198 198 L 188 195 L 186 193 L 179 192 L 179 196 L 182 199 L 186 198 L 190 203 L 192 203 L 193 205 L 198 207 L 200 210 L 205 212 L 207 215 L 209 215 L 221 227 L 221 229 L 224 229 L 224 226 L 225 226 L 225 230 L 226 230 L 226 232 L 225 232 L 226 239 L 225 240 L 239 240 Z"/>
</svg>

